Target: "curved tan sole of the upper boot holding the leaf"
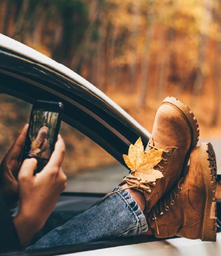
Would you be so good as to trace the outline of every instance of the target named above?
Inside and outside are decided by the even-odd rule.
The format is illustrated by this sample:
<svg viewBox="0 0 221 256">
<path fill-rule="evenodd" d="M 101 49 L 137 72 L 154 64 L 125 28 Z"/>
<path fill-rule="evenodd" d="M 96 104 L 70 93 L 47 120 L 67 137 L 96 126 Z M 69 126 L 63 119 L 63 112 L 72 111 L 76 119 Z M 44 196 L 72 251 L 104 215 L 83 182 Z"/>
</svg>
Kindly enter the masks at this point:
<svg viewBox="0 0 221 256">
<path fill-rule="evenodd" d="M 191 144 L 189 146 L 189 150 L 186 154 L 186 158 L 185 158 L 183 168 L 182 168 L 182 176 L 184 177 L 187 175 L 186 166 L 188 165 L 190 152 L 196 146 L 197 142 L 199 141 L 199 136 L 200 136 L 199 124 L 196 120 L 196 117 L 193 115 L 192 111 L 190 110 L 190 108 L 187 105 L 185 105 L 184 102 L 182 102 L 181 100 L 174 98 L 174 97 L 167 97 L 161 103 L 161 105 L 163 105 L 163 104 L 169 104 L 172 107 L 175 107 L 176 110 L 178 110 L 180 112 L 180 114 L 184 117 L 184 119 L 186 120 L 189 130 L 190 130 Z"/>
</svg>

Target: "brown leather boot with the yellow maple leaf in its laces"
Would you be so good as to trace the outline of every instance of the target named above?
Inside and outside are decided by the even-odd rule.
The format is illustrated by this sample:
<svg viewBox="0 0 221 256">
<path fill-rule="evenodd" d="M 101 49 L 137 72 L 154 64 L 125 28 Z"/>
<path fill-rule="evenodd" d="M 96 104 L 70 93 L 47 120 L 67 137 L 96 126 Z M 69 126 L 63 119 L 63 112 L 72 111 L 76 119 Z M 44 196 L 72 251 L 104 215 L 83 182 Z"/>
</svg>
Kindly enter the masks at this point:
<svg viewBox="0 0 221 256">
<path fill-rule="evenodd" d="M 183 166 L 185 169 L 189 153 L 197 144 L 198 137 L 199 126 L 190 109 L 176 98 L 165 98 L 156 113 L 152 135 L 146 148 L 146 152 L 152 148 L 163 149 L 162 161 L 155 168 L 160 170 L 164 177 L 156 182 L 149 182 L 148 178 L 146 182 L 142 182 L 130 174 L 120 183 L 120 186 L 127 183 L 127 188 L 143 193 L 146 198 L 145 215 L 180 179 L 181 170 Z M 103 200 L 116 192 L 118 191 L 109 193 Z"/>
</svg>

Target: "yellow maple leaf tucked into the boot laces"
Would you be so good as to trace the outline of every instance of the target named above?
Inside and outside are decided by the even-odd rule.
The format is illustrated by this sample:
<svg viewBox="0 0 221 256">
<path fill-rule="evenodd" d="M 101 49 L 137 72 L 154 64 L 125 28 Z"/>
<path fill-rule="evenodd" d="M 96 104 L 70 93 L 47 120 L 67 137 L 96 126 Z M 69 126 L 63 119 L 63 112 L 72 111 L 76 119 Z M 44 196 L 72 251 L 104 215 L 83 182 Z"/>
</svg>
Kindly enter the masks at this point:
<svg viewBox="0 0 221 256">
<path fill-rule="evenodd" d="M 134 145 L 130 145 L 128 155 L 123 154 L 123 159 L 131 171 L 134 171 L 132 175 L 137 176 L 140 181 L 154 182 L 164 177 L 153 168 L 162 160 L 162 154 L 163 149 L 150 149 L 144 154 L 143 143 L 139 137 Z"/>
</svg>

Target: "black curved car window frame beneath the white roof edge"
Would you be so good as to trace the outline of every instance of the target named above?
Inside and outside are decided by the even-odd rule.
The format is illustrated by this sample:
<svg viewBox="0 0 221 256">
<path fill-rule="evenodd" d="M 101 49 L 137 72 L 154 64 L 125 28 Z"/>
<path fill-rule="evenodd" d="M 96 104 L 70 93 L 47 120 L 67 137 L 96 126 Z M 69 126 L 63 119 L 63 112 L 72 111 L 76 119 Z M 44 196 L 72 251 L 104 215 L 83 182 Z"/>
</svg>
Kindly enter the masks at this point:
<svg viewBox="0 0 221 256">
<path fill-rule="evenodd" d="M 41 77 L 41 74 L 45 75 L 45 80 L 40 81 L 39 77 Z M 141 131 L 140 128 L 132 124 L 125 116 L 118 113 L 118 111 L 101 98 L 98 98 L 97 95 L 91 93 L 83 85 L 79 85 L 75 81 L 71 81 L 69 78 L 45 66 L 0 50 L 1 80 L 4 77 L 8 77 L 6 79 L 10 78 L 12 81 L 9 86 L 0 86 L 0 91 L 3 93 L 33 104 L 34 100 L 39 97 L 40 92 L 43 92 L 41 93 L 42 99 L 49 97 L 59 101 L 62 99 L 66 104 L 66 112 L 68 108 L 72 108 L 72 113 L 77 111 L 79 117 L 82 116 L 83 118 L 86 116 L 85 119 L 88 122 L 83 126 L 82 120 L 78 122 L 76 115 L 73 116 L 74 114 L 65 113 L 63 121 L 91 138 L 125 167 L 127 166 L 123 161 L 122 154 L 127 154 L 129 145 L 134 143 L 138 137 L 142 138 L 144 146 L 147 145 L 149 140 L 148 132 L 144 133 Z M 51 84 L 49 81 L 46 81 L 50 78 L 53 78 L 53 82 L 59 79 L 61 81 L 58 82 L 58 85 Z M 13 80 L 16 82 L 13 82 Z M 64 85 L 64 83 L 67 84 Z M 30 91 L 32 92 L 30 93 Z M 82 92 L 83 95 L 80 95 Z M 92 122 L 90 127 L 92 125 L 97 126 L 99 132 L 93 132 L 93 129 L 88 129 L 90 122 Z"/>
</svg>

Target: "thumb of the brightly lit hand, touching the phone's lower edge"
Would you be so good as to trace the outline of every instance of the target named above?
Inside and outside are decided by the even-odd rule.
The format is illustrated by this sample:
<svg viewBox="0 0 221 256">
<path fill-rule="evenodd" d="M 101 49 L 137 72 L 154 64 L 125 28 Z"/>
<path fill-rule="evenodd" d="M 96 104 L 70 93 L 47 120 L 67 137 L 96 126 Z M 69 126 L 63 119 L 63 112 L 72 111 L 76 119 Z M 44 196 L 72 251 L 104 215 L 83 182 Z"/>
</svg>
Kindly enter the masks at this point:
<svg viewBox="0 0 221 256">
<path fill-rule="evenodd" d="M 33 173 L 36 165 L 37 165 L 36 158 L 25 159 L 25 161 L 23 162 L 20 168 L 18 179 L 19 180 L 31 179 L 33 177 Z"/>
</svg>

